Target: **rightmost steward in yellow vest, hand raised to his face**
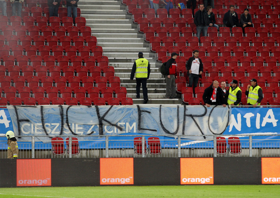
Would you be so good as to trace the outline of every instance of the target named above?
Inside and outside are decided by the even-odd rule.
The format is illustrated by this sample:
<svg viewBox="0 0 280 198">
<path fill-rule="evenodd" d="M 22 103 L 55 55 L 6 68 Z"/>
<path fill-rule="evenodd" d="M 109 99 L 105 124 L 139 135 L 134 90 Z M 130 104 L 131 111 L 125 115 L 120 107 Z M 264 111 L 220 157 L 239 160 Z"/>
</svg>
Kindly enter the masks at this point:
<svg viewBox="0 0 280 198">
<path fill-rule="evenodd" d="M 253 78 L 250 82 L 251 85 L 248 85 L 247 90 L 245 91 L 245 94 L 248 95 L 247 103 L 248 105 L 256 107 L 257 105 L 260 105 L 263 98 L 262 88 L 258 86 L 256 79 Z"/>
</svg>

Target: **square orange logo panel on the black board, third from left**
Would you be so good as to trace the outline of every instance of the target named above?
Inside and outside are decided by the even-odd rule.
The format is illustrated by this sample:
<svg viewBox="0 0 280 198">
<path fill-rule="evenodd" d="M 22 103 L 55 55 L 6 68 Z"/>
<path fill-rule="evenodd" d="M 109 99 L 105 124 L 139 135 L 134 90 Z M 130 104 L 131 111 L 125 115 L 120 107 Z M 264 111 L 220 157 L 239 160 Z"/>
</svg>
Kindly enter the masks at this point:
<svg viewBox="0 0 280 198">
<path fill-rule="evenodd" d="M 213 158 L 181 158 L 181 184 L 214 184 Z"/>
</svg>

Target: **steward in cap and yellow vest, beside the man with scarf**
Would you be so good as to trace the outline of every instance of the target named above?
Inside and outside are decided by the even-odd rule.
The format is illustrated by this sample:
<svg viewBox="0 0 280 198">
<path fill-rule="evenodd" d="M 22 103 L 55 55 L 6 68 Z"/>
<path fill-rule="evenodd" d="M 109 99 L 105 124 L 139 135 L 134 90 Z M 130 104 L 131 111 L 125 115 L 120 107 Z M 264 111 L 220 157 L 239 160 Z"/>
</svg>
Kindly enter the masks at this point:
<svg viewBox="0 0 280 198">
<path fill-rule="evenodd" d="M 227 91 L 227 104 L 228 105 L 239 105 L 240 101 L 241 101 L 241 95 L 242 95 L 242 91 L 239 88 L 239 86 L 237 86 L 238 81 L 237 80 L 232 80 L 232 82 L 230 82 L 231 86 Z"/>
</svg>

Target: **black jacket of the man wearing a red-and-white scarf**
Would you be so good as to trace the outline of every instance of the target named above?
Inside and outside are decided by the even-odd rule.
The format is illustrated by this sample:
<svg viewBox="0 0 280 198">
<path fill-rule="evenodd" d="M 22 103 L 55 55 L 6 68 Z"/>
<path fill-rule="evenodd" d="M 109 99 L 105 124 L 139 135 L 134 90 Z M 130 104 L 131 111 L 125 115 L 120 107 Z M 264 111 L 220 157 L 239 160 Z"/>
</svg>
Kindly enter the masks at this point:
<svg viewBox="0 0 280 198">
<path fill-rule="evenodd" d="M 202 96 L 202 99 L 204 101 L 205 104 L 209 104 L 209 105 L 223 105 L 223 104 L 226 104 L 224 103 L 223 101 L 223 90 L 222 88 L 218 87 L 217 88 L 217 96 L 216 96 L 216 102 L 212 102 L 210 99 L 211 99 L 211 96 L 213 94 L 213 84 L 211 84 L 209 87 L 207 87 L 203 93 L 203 96 Z"/>
</svg>

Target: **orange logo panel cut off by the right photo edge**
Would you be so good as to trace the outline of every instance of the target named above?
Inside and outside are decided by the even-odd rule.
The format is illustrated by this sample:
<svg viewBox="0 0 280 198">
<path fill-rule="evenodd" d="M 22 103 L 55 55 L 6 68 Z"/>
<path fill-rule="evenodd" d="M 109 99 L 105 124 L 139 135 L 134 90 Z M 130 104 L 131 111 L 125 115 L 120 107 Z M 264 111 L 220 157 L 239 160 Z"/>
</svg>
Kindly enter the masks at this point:
<svg viewBox="0 0 280 198">
<path fill-rule="evenodd" d="M 262 184 L 280 184 L 279 167 L 279 157 L 262 157 Z"/>
</svg>

